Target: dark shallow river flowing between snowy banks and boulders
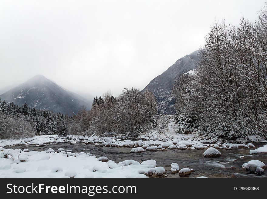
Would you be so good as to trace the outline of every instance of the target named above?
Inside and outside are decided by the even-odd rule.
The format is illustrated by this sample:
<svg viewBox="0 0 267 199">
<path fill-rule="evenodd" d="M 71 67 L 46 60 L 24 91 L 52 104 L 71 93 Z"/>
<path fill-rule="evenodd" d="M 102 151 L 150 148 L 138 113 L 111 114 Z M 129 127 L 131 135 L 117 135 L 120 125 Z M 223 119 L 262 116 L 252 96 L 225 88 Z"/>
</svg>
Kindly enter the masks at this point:
<svg viewBox="0 0 267 199">
<path fill-rule="evenodd" d="M 262 146 L 262 143 L 254 143 L 256 148 Z M 142 153 L 130 153 L 131 148 L 128 147 L 95 147 L 94 144 L 48 144 L 44 147 L 36 147 L 34 145 L 23 145 L 5 147 L 13 149 L 35 149 L 36 151 L 44 151 L 52 148 L 55 151 L 58 148 L 65 150 L 72 150 L 74 153 L 85 152 L 96 155 L 96 157 L 106 156 L 108 159 L 118 163 L 123 160 L 133 159 L 142 162 L 149 159 L 157 161 L 157 166 L 162 166 L 166 170 L 168 177 L 179 177 L 178 174 L 171 174 L 171 163 L 176 162 L 180 169 L 190 168 L 194 169 L 188 177 L 267 177 L 267 171 L 261 176 L 255 174 L 247 174 L 246 171 L 241 169 L 242 164 L 250 160 L 259 160 L 267 164 L 267 154 L 250 155 L 249 150 L 252 148 L 234 148 L 232 150 L 220 149 L 221 157 L 218 158 L 204 158 L 204 150 L 167 150 L 167 151 L 145 151 Z M 240 156 L 244 156 L 240 158 Z M 226 167 L 226 168 L 222 168 Z M 233 167 L 233 168 L 230 168 Z"/>
</svg>

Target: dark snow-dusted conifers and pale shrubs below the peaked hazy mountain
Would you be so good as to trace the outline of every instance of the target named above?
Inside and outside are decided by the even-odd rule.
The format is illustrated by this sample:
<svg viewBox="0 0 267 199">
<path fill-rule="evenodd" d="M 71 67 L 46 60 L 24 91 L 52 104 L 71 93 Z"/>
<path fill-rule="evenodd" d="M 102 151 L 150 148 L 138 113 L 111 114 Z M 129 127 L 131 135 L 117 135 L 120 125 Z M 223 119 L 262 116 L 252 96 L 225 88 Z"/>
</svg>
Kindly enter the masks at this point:
<svg viewBox="0 0 267 199">
<path fill-rule="evenodd" d="M 67 134 L 68 117 L 52 111 L 18 106 L 0 99 L 0 139 L 41 134 Z"/>
</svg>

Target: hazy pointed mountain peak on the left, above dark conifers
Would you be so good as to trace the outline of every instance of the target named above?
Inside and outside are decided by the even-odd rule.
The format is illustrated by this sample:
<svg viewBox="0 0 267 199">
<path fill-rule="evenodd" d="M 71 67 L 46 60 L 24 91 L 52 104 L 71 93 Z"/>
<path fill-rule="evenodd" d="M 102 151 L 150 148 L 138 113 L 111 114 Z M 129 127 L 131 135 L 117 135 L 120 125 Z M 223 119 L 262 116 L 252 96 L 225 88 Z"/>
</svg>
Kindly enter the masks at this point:
<svg viewBox="0 0 267 199">
<path fill-rule="evenodd" d="M 22 106 L 49 110 L 55 113 L 76 114 L 83 105 L 91 108 L 92 101 L 68 91 L 43 75 L 36 75 L 23 84 L 0 95 L 2 100 Z"/>
</svg>

